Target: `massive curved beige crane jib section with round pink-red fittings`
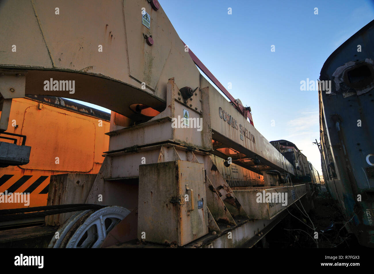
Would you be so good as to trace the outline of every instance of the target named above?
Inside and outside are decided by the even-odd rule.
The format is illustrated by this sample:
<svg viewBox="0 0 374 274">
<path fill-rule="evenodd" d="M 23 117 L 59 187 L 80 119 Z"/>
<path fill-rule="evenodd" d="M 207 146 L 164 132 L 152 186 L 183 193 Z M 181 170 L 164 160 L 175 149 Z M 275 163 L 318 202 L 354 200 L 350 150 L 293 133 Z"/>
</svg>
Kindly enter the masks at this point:
<svg viewBox="0 0 374 274">
<path fill-rule="evenodd" d="M 49 12 L 56 6 L 60 15 Z M 151 16 L 150 30 L 141 24 L 142 7 Z M 64 20 L 67 13 L 69 19 Z M 145 0 L 2 1 L 0 18 L 0 45 L 7 48 L 8 41 L 14 41 L 17 46 L 17 54 L 1 55 L 0 67 L 27 70 L 27 94 L 80 99 L 131 116 L 131 104 L 165 108 L 171 76 L 180 86 L 199 84 L 199 71 L 163 9 L 153 10 Z M 27 28 L 13 28 L 16 25 Z M 153 36 L 152 46 L 143 34 Z M 75 93 L 44 91 L 43 83 L 50 78 L 75 80 Z M 117 98 L 127 98 L 127 104 Z"/>
</svg>

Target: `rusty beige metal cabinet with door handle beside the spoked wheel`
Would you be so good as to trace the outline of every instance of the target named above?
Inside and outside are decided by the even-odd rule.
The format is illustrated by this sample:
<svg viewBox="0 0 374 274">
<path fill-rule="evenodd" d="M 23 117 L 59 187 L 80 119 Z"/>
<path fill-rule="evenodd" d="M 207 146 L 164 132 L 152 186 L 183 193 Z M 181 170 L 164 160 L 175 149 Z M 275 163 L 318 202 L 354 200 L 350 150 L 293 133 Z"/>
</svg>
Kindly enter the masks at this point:
<svg viewBox="0 0 374 274">
<path fill-rule="evenodd" d="M 204 184 L 203 164 L 178 160 L 141 165 L 138 239 L 184 246 L 207 234 Z"/>
</svg>

